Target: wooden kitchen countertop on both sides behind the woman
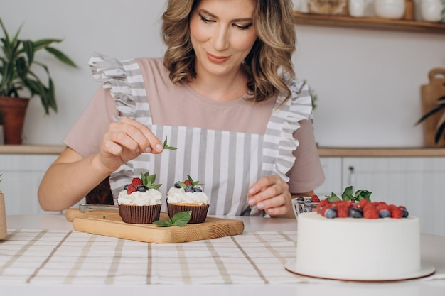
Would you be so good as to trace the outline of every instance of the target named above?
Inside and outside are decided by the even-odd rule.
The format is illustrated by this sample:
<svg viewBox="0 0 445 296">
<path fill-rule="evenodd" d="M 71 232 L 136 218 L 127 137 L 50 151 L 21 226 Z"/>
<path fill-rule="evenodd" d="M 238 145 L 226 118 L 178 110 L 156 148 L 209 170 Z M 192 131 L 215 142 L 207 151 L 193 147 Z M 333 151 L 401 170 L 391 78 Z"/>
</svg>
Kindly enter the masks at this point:
<svg viewBox="0 0 445 296">
<path fill-rule="evenodd" d="M 65 146 L 0 145 L 0 154 L 60 154 Z M 445 148 L 348 148 L 320 147 L 320 157 L 440 157 Z"/>
</svg>

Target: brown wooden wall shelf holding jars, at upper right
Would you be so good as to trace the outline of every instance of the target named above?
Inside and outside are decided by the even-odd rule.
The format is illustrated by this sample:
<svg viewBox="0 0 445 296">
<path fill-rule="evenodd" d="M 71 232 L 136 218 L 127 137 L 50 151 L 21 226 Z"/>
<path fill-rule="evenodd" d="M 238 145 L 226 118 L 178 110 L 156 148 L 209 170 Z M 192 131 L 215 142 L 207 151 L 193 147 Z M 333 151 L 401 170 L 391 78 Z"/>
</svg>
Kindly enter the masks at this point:
<svg viewBox="0 0 445 296">
<path fill-rule="evenodd" d="M 297 25 L 445 34 L 445 23 L 430 23 L 427 21 L 390 20 L 368 17 L 353 18 L 350 16 L 299 13 L 296 11 L 294 11 L 294 21 Z"/>
</svg>

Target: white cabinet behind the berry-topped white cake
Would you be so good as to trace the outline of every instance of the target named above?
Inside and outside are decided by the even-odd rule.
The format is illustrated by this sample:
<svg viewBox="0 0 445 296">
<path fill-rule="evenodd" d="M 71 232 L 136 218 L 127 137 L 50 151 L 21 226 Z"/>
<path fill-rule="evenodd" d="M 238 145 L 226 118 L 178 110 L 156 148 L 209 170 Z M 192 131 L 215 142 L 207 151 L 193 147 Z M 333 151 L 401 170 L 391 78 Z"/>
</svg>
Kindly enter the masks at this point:
<svg viewBox="0 0 445 296">
<path fill-rule="evenodd" d="M 334 159 L 337 162 L 321 158 L 326 182 L 317 193 L 328 191 L 327 186 L 335 188 L 331 191 L 338 194 L 350 185 L 354 190 L 370 190 L 372 200 L 407 207 L 409 214 L 419 217 L 422 232 L 445 236 L 445 158 Z"/>
</svg>

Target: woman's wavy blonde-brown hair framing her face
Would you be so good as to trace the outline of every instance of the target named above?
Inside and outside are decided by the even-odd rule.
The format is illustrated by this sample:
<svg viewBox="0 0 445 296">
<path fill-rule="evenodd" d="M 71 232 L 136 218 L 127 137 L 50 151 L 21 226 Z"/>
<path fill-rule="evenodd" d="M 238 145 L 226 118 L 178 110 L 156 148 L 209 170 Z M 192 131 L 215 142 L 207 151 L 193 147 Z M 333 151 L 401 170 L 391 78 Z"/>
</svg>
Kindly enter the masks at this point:
<svg viewBox="0 0 445 296">
<path fill-rule="evenodd" d="M 164 65 L 173 83 L 191 82 L 196 77 L 195 52 L 190 40 L 189 19 L 200 0 L 168 0 L 162 16 L 162 35 L 167 45 Z M 253 25 L 258 39 L 242 64 L 252 97 L 261 102 L 284 94 L 295 77 L 291 62 L 296 36 L 291 0 L 254 0 Z"/>
</svg>

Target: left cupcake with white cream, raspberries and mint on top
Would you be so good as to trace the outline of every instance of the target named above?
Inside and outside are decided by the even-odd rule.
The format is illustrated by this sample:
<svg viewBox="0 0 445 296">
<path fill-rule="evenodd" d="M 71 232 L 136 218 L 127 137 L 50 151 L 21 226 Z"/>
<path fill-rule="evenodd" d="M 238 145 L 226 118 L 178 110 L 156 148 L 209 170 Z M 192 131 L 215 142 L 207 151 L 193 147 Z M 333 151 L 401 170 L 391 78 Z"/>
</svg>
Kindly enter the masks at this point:
<svg viewBox="0 0 445 296">
<path fill-rule="evenodd" d="M 149 224 L 159 219 L 161 214 L 162 194 L 154 184 L 156 175 L 141 172 L 141 177 L 134 177 L 119 192 L 117 204 L 119 215 L 125 223 Z"/>
</svg>

